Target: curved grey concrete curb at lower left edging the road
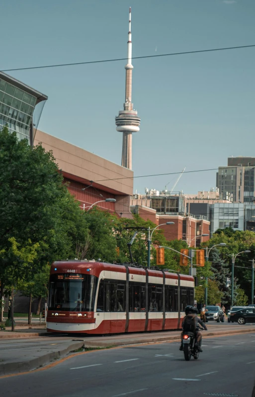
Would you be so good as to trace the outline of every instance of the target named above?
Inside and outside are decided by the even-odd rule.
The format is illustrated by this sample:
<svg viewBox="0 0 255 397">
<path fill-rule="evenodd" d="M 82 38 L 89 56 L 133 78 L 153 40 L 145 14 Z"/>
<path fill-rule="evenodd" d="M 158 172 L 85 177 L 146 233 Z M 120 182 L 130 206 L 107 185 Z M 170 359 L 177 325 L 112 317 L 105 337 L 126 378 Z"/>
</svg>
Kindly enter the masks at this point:
<svg viewBox="0 0 255 397">
<path fill-rule="evenodd" d="M 84 347 L 84 342 L 76 342 L 63 350 L 47 353 L 41 357 L 36 357 L 27 362 L 21 361 L 21 362 L 0 364 L 0 376 L 20 374 L 22 372 L 35 370 L 36 368 L 42 367 L 43 365 L 48 364 L 51 361 L 58 360 L 61 357 L 66 356 L 68 353 L 72 353 L 75 350 L 81 349 L 83 347 Z"/>
</svg>

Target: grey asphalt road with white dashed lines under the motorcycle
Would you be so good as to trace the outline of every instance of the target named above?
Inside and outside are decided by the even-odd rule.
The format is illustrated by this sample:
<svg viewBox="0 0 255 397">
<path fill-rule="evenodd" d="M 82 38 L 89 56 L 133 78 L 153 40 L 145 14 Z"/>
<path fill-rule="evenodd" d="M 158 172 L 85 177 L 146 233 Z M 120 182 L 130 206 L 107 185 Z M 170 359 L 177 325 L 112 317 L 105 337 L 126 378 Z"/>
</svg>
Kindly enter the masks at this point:
<svg viewBox="0 0 255 397">
<path fill-rule="evenodd" d="M 0 396 L 251 396 L 255 333 L 204 338 L 196 361 L 184 361 L 178 348 L 174 342 L 80 354 L 43 371 L 0 379 Z"/>
</svg>

